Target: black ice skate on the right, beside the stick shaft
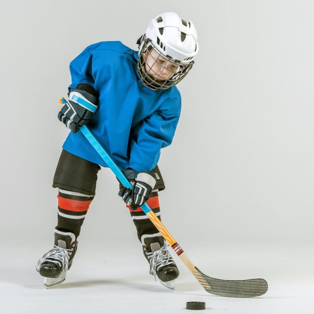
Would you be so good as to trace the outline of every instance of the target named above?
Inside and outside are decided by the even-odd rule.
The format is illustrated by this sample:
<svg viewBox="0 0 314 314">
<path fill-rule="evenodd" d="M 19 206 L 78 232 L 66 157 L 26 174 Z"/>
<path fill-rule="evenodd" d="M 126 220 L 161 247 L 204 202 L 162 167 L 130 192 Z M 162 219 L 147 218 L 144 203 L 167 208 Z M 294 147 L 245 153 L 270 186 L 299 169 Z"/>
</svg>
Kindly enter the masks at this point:
<svg viewBox="0 0 314 314">
<path fill-rule="evenodd" d="M 169 244 L 165 244 L 162 236 L 147 237 L 143 239 L 143 253 L 149 262 L 149 274 L 156 275 L 160 283 L 166 288 L 175 291 L 174 280 L 179 276 L 179 270 L 167 250 Z"/>
</svg>

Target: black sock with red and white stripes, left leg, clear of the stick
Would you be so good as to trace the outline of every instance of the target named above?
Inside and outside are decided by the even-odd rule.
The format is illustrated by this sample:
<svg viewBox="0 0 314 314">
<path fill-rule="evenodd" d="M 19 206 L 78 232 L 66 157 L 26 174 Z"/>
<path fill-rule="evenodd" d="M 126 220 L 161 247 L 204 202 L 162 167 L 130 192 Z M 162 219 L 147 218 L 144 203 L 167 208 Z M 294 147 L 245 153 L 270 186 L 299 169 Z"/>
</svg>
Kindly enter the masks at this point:
<svg viewBox="0 0 314 314">
<path fill-rule="evenodd" d="M 72 232 L 77 238 L 94 196 L 60 188 L 58 190 L 58 225 L 56 229 L 62 232 Z"/>
</svg>

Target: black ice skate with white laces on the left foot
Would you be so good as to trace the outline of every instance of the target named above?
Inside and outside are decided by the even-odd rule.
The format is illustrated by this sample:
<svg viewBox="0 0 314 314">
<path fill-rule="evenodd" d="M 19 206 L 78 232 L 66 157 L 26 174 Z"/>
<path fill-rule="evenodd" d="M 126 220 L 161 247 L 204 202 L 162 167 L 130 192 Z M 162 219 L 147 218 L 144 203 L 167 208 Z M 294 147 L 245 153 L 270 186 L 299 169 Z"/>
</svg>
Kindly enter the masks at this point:
<svg viewBox="0 0 314 314">
<path fill-rule="evenodd" d="M 41 257 L 36 265 L 36 270 L 45 277 L 44 286 L 46 289 L 62 284 L 65 280 L 78 245 L 73 233 L 61 232 L 57 229 L 54 230 L 54 233 L 55 244 L 53 248 Z"/>
</svg>

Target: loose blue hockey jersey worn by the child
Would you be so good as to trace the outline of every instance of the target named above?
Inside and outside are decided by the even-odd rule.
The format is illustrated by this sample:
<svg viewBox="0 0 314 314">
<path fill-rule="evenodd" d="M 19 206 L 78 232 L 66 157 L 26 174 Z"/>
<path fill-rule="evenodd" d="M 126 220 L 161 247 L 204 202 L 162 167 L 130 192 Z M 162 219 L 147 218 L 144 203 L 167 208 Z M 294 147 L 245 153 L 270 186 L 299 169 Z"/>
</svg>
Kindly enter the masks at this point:
<svg viewBox="0 0 314 314">
<path fill-rule="evenodd" d="M 87 127 L 118 167 L 151 171 L 160 149 L 171 144 L 181 111 L 176 86 L 155 91 L 144 86 L 136 68 L 138 51 L 120 41 L 88 46 L 70 63 L 72 84 L 92 85 L 98 109 Z M 107 167 L 81 132 L 70 133 L 63 149 Z"/>
</svg>

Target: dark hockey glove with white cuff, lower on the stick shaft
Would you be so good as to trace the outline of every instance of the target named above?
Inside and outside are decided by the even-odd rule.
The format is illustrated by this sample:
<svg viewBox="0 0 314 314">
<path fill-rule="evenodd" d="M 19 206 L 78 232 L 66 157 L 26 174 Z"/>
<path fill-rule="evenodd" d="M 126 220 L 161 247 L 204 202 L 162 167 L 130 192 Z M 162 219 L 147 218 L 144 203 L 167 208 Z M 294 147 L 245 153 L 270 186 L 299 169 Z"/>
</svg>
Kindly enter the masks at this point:
<svg viewBox="0 0 314 314">
<path fill-rule="evenodd" d="M 155 175 L 151 172 L 137 172 L 133 169 L 123 170 L 124 175 L 133 185 L 133 190 L 124 186 L 118 193 L 131 210 L 141 207 L 149 198 L 156 184 Z"/>
</svg>

